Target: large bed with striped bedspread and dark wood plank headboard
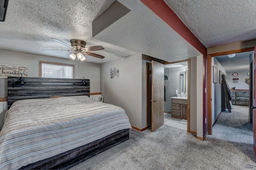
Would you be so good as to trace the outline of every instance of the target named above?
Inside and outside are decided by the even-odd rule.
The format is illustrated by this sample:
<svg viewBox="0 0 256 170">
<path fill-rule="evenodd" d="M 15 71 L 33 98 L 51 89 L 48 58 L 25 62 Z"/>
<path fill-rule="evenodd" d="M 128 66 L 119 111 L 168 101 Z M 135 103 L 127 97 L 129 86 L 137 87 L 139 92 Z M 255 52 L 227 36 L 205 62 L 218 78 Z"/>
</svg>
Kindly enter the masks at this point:
<svg viewBox="0 0 256 170">
<path fill-rule="evenodd" d="M 17 78 L 8 77 L 8 107 L 4 127 L 0 132 L 0 169 L 67 169 L 116 144 L 129 139 L 131 125 L 124 109 L 103 102 L 96 102 L 84 93 L 66 95 L 62 90 L 28 90 L 21 100 L 13 94 L 16 89 L 35 81 L 26 78 L 26 85 L 15 83 Z M 38 81 L 38 78 L 35 78 Z M 50 86 L 49 83 L 36 85 Z M 29 81 L 28 81 L 29 80 Z M 74 81 L 74 79 L 72 80 Z M 78 79 L 88 91 L 88 81 Z M 56 80 L 60 84 L 60 80 Z M 65 80 L 65 86 L 68 86 Z M 71 83 L 72 84 L 72 83 Z M 55 87 L 55 85 L 54 85 Z M 80 86 L 79 86 L 80 87 Z M 36 98 L 35 93 L 56 91 L 64 97 Z M 72 88 L 67 88 L 72 89 Z M 80 88 L 79 91 L 82 91 Z M 16 94 L 20 90 L 16 89 Z M 74 88 L 72 89 L 74 91 Z M 31 95 L 32 94 L 32 95 Z M 66 95 L 66 96 L 65 96 Z M 42 97 L 43 96 L 43 97 Z M 17 101 L 14 98 L 19 98 Z M 10 99 L 10 102 L 9 102 Z M 13 103 L 14 102 L 14 103 Z"/>
</svg>

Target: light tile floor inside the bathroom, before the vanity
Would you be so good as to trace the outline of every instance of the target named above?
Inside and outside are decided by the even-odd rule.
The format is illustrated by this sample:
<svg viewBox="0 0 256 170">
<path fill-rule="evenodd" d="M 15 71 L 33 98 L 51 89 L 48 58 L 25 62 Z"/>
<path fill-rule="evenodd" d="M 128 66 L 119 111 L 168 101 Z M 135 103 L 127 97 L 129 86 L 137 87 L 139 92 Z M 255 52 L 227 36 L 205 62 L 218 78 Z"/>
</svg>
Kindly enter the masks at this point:
<svg viewBox="0 0 256 170">
<path fill-rule="evenodd" d="M 187 120 L 173 118 L 172 114 L 164 113 L 164 125 L 187 130 L 188 125 L 186 125 L 184 123 L 187 123 Z"/>
</svg>

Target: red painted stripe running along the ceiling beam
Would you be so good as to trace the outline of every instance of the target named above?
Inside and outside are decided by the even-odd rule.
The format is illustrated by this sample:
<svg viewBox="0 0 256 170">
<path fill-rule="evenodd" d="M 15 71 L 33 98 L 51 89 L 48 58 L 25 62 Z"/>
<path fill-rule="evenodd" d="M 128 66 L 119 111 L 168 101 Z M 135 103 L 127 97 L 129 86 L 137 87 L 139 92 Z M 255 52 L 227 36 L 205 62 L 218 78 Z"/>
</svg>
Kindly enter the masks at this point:
<svg viewBox="0 0 256 170">
<path fill-rule="evenodd" d="M 140 0 L 164 22 L 166 22 L 182 38 L 195 47 L 203 55 L 207 55 L 207 48 L 194 36 L 194 34 L 185 26 L 172 9 L 164 0 Z"/>
</svg>

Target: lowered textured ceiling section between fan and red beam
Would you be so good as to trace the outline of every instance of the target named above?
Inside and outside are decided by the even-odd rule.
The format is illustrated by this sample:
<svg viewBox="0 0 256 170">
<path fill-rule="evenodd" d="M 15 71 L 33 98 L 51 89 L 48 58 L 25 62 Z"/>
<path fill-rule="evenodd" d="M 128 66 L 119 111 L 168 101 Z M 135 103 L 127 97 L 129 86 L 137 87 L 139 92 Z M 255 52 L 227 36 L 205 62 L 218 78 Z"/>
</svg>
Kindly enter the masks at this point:
<svg viewBox="0 0 256 170">
<path fill-rule="evenodd" d="M 130 8 L 131 12 L 94 38 L 165 61 L 201 55 L 142 2 L 136 1 L 136 8 L 130 7 L 127 0 L 119 2 Z"/>
</svg>

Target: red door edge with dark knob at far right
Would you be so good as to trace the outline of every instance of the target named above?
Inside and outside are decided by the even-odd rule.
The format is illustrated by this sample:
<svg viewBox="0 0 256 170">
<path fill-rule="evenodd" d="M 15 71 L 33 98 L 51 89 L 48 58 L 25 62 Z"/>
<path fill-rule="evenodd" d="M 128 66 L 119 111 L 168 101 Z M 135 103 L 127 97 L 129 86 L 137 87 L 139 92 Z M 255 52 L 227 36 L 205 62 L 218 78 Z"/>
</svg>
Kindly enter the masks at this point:
<svg viewBox="0 0 256 170">
<path fill-rule="evenodd" d="M 254 48 L 254 57 L 253 57 L 253 105 L 251 108 L 253 109 L 253 147 L 254 153 L 256 156 L 256 46 Z"/>
</svg>

